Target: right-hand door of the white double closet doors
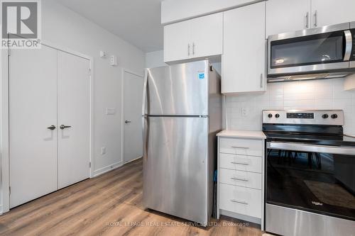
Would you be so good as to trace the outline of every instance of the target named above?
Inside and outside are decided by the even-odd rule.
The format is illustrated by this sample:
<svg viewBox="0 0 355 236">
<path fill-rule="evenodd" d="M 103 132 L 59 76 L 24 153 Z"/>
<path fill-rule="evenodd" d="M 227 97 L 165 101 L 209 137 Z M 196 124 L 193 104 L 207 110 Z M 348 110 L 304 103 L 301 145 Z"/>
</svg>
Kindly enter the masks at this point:
<svg viewBox="0 0 355 236">
<path fill-rule="evenodd" d="M 58 52 L 59 189 L 89 178 L 89 94 L 89 60 Z"/>
</svg>

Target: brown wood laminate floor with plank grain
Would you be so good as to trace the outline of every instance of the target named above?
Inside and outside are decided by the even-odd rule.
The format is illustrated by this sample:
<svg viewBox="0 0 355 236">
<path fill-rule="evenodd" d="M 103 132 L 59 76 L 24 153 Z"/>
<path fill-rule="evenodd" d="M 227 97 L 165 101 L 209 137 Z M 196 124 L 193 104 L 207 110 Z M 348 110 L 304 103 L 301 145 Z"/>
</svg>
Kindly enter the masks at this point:
<svg viewBox="0 0 355 236">
<path fill-rule="evenodd" d="M 11 209 L 0 216 L 0 235 L 262 235 L 230 218 L 203 228 L 146 210 L 142 185 L 138 159 Z"/>
</svg>

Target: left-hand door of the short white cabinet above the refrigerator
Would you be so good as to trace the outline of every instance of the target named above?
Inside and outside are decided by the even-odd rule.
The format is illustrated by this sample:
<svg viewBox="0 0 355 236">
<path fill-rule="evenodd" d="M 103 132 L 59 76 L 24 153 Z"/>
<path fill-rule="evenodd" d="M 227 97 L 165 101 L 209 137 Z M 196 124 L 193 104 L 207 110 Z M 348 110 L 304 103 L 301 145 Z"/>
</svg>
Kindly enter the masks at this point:
<svg viewBox="0 0 355 236">
<path fill-rule="evenodd" d="M 190 21 L 164 26 L 164 62 L 184 60 L 192 54 Z"/>
</svg>

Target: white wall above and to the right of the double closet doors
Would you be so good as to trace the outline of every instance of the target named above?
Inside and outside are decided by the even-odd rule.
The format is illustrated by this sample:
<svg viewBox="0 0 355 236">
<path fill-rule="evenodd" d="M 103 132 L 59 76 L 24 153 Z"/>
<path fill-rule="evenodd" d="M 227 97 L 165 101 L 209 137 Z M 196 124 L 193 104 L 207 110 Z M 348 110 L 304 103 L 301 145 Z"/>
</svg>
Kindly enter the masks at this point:
<svg viewBox="0 0 355 236">
<path fill-rule="evenodd" d="M 94 57 L 94 168 L 121 162 L 121 68 L 143 75 L 144 52 L 53 0 L 42 1 L 43 39 Z M 111 67 L 99 51 L 118 57 Z M 116 108 L 116 115 L 105 115 Z M 101 147 L 107 154 L 101 155 Z M 95 172 L 97 173 L 97 172 Z"/>
</svg>

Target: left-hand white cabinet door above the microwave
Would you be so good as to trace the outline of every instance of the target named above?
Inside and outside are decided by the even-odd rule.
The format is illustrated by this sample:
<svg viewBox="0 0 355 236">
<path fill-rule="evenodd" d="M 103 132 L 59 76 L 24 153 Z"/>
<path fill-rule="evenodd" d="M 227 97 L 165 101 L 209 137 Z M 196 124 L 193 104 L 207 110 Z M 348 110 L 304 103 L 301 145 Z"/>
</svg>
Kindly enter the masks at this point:
<svg viewBox="0 0 355 236">
<path fill-rule="evenodd" d="M 324 0 L 318 1 L 323 2 Z M 338 2 L 327 1 L 333 1 L 334 4 Z M 310 4 L 310 0 L 266 1 L 266 38 L 269 35 L 311 28 Z"/>
</svg>

